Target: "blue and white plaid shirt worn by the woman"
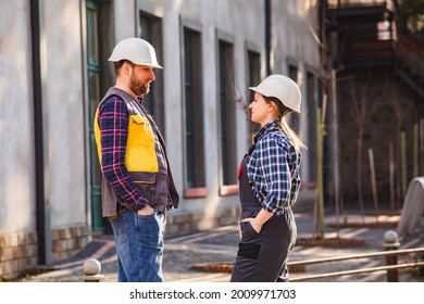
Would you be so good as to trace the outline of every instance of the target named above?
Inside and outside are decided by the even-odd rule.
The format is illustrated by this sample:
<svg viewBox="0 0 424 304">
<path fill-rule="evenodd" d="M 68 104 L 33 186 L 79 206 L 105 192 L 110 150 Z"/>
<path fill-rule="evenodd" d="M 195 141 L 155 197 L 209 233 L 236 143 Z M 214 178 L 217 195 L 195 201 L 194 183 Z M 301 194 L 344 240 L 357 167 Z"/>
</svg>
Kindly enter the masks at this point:
<svg viewBox="0 0 424 304">
<path fill-rule="evenodd" d="M 257 134 L 246 165 L 253 195 L 264 210 L 279 215 L 295 204 L 300 190 L 300 161 L 301 154 L 278 121 L 266 124 Z"/>
</svg>

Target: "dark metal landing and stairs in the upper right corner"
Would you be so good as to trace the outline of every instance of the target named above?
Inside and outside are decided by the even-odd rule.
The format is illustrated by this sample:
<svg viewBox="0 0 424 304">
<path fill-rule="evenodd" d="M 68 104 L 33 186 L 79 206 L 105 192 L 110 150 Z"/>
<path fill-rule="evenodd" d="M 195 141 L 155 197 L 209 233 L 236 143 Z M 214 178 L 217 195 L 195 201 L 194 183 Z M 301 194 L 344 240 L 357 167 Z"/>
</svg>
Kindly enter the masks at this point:
<svg viewBox="0 0 424 304">
<path fill-rule="evenodd" d="M 397 37 L 392 21 L 394 13 L 385 2 L 347 2 L 327 9 L 329 30 L 338 35 L 333 60 L 347 68 L 394 67 L 396 75 L 424 98 L 424 40 Z"/>
</svg>

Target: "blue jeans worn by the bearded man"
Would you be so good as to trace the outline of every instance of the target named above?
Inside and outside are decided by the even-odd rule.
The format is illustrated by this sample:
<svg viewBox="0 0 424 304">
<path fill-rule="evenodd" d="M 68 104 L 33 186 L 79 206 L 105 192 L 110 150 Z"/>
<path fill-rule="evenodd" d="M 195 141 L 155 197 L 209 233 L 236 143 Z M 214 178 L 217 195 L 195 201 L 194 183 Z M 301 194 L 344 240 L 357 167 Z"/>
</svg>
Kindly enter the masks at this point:
<svg viewBox="0 0 424 304">
<path fill-rule="evenodd" d="M 117 253 L 117 281 L 162 282 L 165 214 L 142 216 L 123 210 L 110 223 Z"/>
</svg>

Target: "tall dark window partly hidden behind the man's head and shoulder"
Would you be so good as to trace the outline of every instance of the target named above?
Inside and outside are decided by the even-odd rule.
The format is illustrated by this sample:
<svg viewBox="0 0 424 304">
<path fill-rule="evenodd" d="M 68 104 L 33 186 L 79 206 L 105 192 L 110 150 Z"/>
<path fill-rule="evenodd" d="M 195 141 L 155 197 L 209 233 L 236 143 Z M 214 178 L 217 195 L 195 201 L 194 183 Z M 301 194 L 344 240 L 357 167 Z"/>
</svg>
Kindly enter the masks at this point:
<svg viewBox="0 0 424 304">
<path fill-rule="evenodd" d="M 162 22 L 161 18 L 140 12 L 139 37 L 153 46 L 158 62 L 163 66 L 162 60 Z M 164 104 L 163 104 L 163 72 L 154 68 L 155 80 L 150 85 L 150 92 L 144 98 L 144 105 L 154 116 L 161 131 L 164 130 Z"/>
</svg>

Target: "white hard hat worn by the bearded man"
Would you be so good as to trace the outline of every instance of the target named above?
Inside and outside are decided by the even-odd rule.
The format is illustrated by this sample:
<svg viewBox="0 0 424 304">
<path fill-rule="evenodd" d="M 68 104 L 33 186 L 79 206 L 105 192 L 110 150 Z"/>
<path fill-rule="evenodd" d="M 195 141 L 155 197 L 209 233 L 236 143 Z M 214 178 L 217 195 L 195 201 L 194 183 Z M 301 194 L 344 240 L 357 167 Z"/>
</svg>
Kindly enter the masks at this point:
<svg viewBox="0 0 424 304">
<path fill-rule="evenodd" d="M 128 60 L 137 65 L 162 68 L 158 64 L 154 48 L 141 38 L 127 38 L 116 45 L 109 61 L 117 62 L 121 60 Z"/>
</svg>

